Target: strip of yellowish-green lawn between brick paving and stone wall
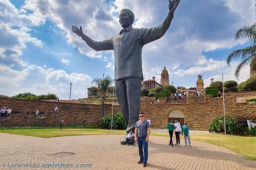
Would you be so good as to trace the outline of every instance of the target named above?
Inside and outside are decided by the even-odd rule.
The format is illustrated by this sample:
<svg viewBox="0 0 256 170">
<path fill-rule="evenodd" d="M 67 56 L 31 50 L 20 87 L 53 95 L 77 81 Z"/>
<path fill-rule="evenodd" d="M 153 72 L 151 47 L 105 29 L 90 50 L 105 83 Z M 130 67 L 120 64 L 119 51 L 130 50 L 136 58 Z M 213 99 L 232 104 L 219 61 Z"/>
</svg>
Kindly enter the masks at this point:
<svg viewBox="0 0 256 170">
<path fill-rule="evenodd" d="M 0 133 L 21 134 L 35 137 L 61 137 L 76 136 L 89 134 L 126 134 L 125 130 L 108 130 L 108 129 L 6 129 L 0 130 Z M 151 133 L 154 136 L 166 136 L 168 133 Z M 250 160 L 256 160 L 256 137 L 235 136 L 224 134 L 203 134 L 191 133 L 191 140 L 202 141 L 230 149 L 239 154 L 245 155 Z M 181 136 L 182 140 L 183 137 Z M 193 143 L 192 143 L 193 145 Z"/>
</svg>

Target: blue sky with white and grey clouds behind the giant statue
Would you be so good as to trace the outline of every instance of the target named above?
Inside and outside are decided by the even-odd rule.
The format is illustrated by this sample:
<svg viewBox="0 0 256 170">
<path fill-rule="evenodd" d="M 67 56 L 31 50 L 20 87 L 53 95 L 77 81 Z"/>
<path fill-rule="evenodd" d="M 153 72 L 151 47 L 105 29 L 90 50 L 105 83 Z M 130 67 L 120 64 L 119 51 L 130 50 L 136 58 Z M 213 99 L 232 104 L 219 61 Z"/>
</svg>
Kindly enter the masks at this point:
<svg viewBox="0 0 256 170">
<path fill-rule="evenodd" d="M 100 41 L 122 29 L 118 14 L 129 8 L 133 27 L 158 26 L 168 12 L 168 0 L 0 0 L 0 94 L 55 93 L 68 99 L 87 94 L 95 77 L 114 77 L 113 51 L 96 52 L 71 31 L 72 25 Z M 160 74 L 164 64 L 174 86 L 195 87 L 198 74 L 205 86 L 214 81 L 245 81 L 249 67 L 237 80 L 238 61 L 227 66 L 234 49 L 246 47 L 235 32 L 256 21 L 255 0 L 181 0 L 164 37 L 145 45 L 144 80 Z"/>
</svg>

